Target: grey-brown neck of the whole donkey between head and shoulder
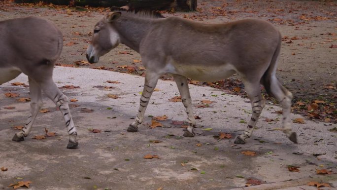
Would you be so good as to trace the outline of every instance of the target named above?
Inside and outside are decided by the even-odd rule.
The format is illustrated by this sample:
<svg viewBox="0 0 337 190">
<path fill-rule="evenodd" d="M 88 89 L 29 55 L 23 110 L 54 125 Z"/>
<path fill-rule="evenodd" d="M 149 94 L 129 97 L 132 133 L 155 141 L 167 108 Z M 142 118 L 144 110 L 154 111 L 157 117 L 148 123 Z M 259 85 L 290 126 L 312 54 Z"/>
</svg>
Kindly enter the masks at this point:
<svg viewBox="0 0 337 190">
<path fill-rule="evenodd" d="M 116 20 L 115 27 L 121 38 L 121 43 L 139 53 L 140 42 L 152 27 L 154 19 L 120 18 Z"/>
</svg>

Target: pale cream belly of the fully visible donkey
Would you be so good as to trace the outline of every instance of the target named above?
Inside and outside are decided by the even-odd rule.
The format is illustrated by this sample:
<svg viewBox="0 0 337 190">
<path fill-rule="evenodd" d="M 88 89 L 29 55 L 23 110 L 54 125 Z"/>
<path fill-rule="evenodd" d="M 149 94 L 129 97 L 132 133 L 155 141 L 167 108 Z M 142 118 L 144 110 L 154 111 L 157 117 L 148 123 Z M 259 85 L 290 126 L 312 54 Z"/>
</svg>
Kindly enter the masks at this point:
<svg viewBox="0 0 337 190">
<path fill-rule="evenodd" d="M 236 74 L 234 67 L 230 64 L 221 66 L 174 65 L 174 68 L 178 75 L 204 82 L 215 82 Z"/>
</svg>

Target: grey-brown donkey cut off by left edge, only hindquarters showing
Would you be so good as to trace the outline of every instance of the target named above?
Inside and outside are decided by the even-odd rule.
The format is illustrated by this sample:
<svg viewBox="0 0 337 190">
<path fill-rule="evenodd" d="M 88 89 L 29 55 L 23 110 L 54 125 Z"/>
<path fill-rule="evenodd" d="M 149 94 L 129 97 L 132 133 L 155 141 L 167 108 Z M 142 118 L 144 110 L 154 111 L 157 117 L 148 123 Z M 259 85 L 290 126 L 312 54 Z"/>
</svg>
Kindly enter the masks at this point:
<svg viewBox="0 0 337 190">
<path fill-rule="evenodd" d="M 68 149 L 76 149 L 76 128 L 68 107 L 68 98 L 53 81 L 53 69 L 60 57 L 63 35 L 56 25 L 38 17 L 10 19 L 0 22 L 0 84 L 21 73 L 29 78 L 31 115 L 24 129 L 13 141 L 23 141 L 31 132 L 42 106 L 42 91 L 60 109 L 69 134 Z"/>
</svg>

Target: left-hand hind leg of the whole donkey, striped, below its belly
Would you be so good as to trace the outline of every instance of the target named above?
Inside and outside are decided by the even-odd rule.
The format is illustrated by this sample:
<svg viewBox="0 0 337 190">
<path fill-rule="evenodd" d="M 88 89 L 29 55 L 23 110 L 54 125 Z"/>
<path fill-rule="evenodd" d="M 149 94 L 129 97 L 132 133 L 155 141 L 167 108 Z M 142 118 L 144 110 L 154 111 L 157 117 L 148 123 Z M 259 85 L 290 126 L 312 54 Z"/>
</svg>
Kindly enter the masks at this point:
<svg viewBox="0 0 337 190">
<path fill-rule="evenodd" d="M 248 121 L 248 125 L 243 133 L 236 137 L 235 144 L 245 144 L 246 140 L 252 135 L 254 127 L 265 107 L 265 100 L 262 98 L 259 82 L 244 81 L 244 88 L 252 105 L 252 116 Z"/>
</svg>

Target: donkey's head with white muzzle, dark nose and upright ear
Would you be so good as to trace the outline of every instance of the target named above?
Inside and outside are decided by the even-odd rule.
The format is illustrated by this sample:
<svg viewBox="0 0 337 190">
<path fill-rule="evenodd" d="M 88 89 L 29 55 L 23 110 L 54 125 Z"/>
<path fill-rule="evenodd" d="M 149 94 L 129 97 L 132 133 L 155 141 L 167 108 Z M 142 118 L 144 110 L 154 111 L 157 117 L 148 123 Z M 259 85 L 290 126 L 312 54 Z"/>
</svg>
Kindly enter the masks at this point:
<svg viewBox="0 0 337 190">
<path fill-rule="evenodd" d="M 111 25 L 119 16 L 121 12 L 109 12 L 95 25 L 93 38 L 87 48 L 90 63 L 97 63 L 102 55 L 120 43 L 119 34 Z"/>
</svg>

